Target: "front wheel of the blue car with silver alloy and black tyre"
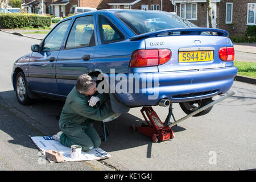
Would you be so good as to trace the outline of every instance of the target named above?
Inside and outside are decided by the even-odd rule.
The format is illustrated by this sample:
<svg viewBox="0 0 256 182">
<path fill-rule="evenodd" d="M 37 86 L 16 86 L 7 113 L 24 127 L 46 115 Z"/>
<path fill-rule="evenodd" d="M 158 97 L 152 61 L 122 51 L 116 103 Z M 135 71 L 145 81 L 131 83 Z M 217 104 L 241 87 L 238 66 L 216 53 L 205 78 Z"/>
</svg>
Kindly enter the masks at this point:
<svg viewBox="0 0 256 182">
<path fill-rule="evenodd" d="M 28 105 L 31 103 L 31 98 L 28 97 L 28 86 L 25 75 L 23 72 L 19 72 L 16 76 L 16 97 L 20 104 Z"/>
</svg>

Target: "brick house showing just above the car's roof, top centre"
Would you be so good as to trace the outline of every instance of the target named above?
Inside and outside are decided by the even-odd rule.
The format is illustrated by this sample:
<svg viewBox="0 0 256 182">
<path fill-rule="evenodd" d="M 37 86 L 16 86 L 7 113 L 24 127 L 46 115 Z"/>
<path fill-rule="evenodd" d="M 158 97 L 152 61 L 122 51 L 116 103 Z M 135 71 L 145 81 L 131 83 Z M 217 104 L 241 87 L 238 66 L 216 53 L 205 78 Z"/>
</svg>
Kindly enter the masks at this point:
<svg viewBox="0 0 256 182">
<path fill-rule="evenodd" d="M 174 11 L 174 5 L 170 0 L 112 0 L 108 5 L 110 9 Z"/>
</svg>

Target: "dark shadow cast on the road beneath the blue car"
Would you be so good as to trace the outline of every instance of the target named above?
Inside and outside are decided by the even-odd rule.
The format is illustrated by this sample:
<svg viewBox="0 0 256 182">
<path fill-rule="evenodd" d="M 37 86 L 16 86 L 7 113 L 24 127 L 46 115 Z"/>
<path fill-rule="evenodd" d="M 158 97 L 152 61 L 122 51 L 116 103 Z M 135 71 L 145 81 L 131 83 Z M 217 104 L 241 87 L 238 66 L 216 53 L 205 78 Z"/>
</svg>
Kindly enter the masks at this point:
<svg viewBox="0 0 256 182">
<path fill-rule="evenodd" d="M 31 105 L 23 106 L 16 101 L 15 92 L 13 90 L 0 92 L 0 98 L 5 100 L 5 103 L 9 105 L 9 110 L 18 110 L 18 113 L 20 112 L 23 115 L 26 115 L 27 119 L 24 123 L 27 123 L 27 126 L 39 126 L 39 130 L 42 129 L 40 130 L 42 133 L 38 133 L 37 135 L 53 135 L 60 130 L 59 118 L 64 101 L 42 98 L 40 100 L 35 100 Z M 139 113 L 140 109 L 141 107 L 138 107 Z M 146 123 L 141 118 L 135 117 L 129 113 L 124 113 L 114 121 L 107 122 L 106 127 L 109 131 L 110 137 L 106 142 L 102 142 L 100 147 L 108 152 L 112 152 L 148 145 L 147 157 L 150 158 L 152 139 L 146 135 L 142 135 L 137 132 L 133 133 L 130 131 L 131 125 L 141 126 L 142 122 Z M 101 122 L 94 122 L 94 126 L 97 130 L 101 126 Z M 17 130 L 18 136 L 35 136 L 35 134 L 32 133 L 23 133 L 23 130 L 16 126 L 14 126 L 13 129 Z M 174 126 L 172 127 L 172 130 L 176 133 L 179 131 L 184 131 L 185 129 L 180 126 Z M 30 144 L 27 144 L 22 142 L 19 137 L 16 137 L 16 134 L 14 136 L 13 133 L 11 133 L 8 129 L 5 129 L 5 132 L 14 138 L 13 140 L 9 141 L 10 143 L 22 144 L 26 147 L 31 147 L 32 141 Z"/>
</svg>

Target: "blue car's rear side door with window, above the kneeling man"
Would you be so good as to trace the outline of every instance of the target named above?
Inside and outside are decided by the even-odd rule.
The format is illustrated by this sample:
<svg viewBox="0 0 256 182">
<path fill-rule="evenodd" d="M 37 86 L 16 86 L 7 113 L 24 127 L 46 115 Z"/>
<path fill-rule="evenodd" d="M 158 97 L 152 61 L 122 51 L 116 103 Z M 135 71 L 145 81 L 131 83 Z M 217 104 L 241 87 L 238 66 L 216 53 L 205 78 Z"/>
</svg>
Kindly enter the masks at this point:
<svg viewBox="0 0 256 182">
<path fill-rule="evenodd" d="M 64 48 L 56 63 L 56 79 L 59 92 L 63 96 L 76 85 L 77 78 L 88 73 L 92 67 L 96 50 L 94 15 L 78 16 L 72 25 Z"/>
</svg>

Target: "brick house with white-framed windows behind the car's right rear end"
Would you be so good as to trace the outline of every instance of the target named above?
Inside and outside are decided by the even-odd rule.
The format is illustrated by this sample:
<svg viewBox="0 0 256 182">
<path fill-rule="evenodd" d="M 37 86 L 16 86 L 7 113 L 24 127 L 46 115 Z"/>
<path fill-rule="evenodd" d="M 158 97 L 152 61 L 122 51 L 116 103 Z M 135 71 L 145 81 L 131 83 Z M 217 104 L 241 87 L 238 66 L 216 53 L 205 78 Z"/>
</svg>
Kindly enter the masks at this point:
<svg viewBox="0 0 256 182">
<path fill-rule="evenodd" d="M 199 27 L 209 27 L 206 0 L 170 0 L 177 15 Z M 213 27 L 243 36 L 249 25 L 256 25 L 256 0 L 211 0 Z"/>
</svg>

